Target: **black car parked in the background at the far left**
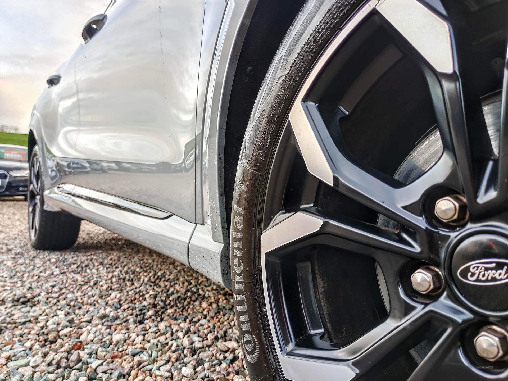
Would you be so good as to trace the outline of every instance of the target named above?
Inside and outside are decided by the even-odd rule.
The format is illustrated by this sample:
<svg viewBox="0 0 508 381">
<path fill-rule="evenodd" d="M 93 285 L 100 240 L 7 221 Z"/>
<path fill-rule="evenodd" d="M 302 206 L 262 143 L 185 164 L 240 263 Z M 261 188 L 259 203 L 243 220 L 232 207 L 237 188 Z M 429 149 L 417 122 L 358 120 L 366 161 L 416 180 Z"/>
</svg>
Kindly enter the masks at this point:
<svg viewBox="0 0 508 381">
<path fill-rule="evenodd" d="M 28 194 L 28 149 L 0 144 L 0 196 Z"/>
</svg>

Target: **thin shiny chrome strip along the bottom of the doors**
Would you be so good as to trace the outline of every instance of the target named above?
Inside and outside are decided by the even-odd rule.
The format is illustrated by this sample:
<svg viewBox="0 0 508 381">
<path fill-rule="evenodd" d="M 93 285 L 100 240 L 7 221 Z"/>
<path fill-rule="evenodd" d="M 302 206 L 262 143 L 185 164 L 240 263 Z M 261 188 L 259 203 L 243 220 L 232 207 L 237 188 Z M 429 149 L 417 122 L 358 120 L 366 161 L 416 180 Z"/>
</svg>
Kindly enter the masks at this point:
<svg viewBox="0 0 508 381">
<path fill-rule="evenodd" d="M 58 192 L 66 195 L 72 195 L 74 197 L 105 204 L 113 208 L 145 215 L 147 217 L 168 218 L 172 215 L 164 210 L 152 208 L 131 200 L 122 199 L 121 197 L 108 195 L 106 193 L 98 192 L 97 190 L 88 189 L 74 184 L 60 184 L 56 187 L 56 189 Z"/>
</svg>

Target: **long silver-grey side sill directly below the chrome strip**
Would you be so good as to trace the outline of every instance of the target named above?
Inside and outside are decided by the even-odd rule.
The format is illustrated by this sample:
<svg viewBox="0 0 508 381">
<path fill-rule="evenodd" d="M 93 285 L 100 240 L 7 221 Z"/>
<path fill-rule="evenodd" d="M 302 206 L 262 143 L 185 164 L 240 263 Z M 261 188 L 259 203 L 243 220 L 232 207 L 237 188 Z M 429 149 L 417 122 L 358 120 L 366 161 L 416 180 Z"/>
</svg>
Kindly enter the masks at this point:
<svg viewBox="0 0 508 381">
<path fill-rule="evenodd" d="M 93 224 L 161 252 L 188 265 L 188 245 L 195 224 L 173 215 L 166 219 L 148 217 L 118 209 L 69 193 L 57 187 L 44 192 L 44 201 L 52 210 L 65 210 Z"/>
</svg>

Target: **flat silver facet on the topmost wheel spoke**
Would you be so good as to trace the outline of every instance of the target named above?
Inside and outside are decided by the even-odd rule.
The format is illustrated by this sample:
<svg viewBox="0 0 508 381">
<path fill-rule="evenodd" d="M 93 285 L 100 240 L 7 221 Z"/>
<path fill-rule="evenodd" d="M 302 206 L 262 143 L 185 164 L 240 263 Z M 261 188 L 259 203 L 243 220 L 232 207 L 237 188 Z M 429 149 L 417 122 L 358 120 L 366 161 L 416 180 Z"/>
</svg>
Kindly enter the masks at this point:
<svg viewBox="0 0 508 381">
<path fill-rule="evenodd" d="M 453 73 L 448 24 L 417 0 L 381 0 L 376 9 L 441 73 Z"/>
</svg>

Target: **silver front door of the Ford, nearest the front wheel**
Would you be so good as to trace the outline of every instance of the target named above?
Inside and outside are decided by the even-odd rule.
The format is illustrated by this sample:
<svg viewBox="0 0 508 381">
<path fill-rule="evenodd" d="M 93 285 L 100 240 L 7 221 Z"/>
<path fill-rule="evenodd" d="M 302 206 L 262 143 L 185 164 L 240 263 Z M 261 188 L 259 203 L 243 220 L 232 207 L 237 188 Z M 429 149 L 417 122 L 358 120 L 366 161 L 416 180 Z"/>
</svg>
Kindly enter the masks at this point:
<svg viewBox="0 0 508 381">
<path fill-rule="evenodd" d="M 205 0 L 119 0 L 76 57 L 73 182 L 195 222 L 196 101 Z"/>
</svg>

